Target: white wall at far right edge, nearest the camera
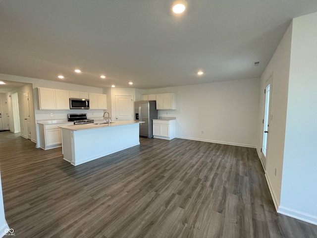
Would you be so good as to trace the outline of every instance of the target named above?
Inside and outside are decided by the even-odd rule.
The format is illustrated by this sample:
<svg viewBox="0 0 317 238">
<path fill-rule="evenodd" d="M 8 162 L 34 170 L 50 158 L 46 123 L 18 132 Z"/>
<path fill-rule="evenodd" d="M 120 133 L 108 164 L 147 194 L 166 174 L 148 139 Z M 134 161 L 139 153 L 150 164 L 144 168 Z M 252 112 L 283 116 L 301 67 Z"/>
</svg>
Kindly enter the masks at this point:
<svg viewBox="0 0 317 238">
<path fill-rule="evenodd" d="M 317 224 L 317 12 L 293 19 L 279 212 Z"/>
</svg>

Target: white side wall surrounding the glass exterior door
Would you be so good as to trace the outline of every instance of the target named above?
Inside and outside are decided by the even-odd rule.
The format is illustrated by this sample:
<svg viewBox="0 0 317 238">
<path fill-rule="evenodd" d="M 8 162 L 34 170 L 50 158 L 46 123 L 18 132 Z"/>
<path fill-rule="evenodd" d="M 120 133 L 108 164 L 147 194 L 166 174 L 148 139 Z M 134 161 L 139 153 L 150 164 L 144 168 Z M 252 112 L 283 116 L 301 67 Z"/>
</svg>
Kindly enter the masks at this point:
<svg viewBox="0 0 317 238">
<path fill-rule="evenodd" d="M 262 148 L 263 136 L 263 114 L 264 114 L 264 83 L 273 74 L 273 82 L 271 88 L 271 116 L 269 121 L 269 139 L 266 153 L 266 178 L 268 180 L 275 208 L 277 210 L 280 204 L 281 182 L 283 171 L 283 156 L 284 156 L 284 138 L 285 138 L 285 123 L 286 123 L 286 107 L 287 107 L 287 92 L 288 78 L 290 67 L 290 50 L 292 24 L 284 34 L 275 53 L 266 66 L 261 76 L 260 89 L 260 107 L 258 119 L 258 139 L 257 149 Z M 261 155 L 261 153 L 259 153 Z M 276 168 L 276 176 L 275 176 Z"/>
</svg>

